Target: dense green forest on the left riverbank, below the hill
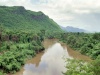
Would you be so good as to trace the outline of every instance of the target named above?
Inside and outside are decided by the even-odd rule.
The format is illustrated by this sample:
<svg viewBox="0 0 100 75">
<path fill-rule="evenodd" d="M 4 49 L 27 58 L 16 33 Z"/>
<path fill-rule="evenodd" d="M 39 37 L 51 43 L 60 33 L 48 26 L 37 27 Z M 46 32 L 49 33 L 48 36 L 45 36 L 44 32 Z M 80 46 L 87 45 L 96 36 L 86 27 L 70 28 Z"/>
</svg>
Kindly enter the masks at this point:
<svg viewBox="0 0 100 75">
<path fill-rule="evenodd" d="M 15 73 L 32 58 L 44 50 L 42 41 L 45 31 L 40 33 L 6 32 L 0 27 L 0 75 Z"/>
</svg>

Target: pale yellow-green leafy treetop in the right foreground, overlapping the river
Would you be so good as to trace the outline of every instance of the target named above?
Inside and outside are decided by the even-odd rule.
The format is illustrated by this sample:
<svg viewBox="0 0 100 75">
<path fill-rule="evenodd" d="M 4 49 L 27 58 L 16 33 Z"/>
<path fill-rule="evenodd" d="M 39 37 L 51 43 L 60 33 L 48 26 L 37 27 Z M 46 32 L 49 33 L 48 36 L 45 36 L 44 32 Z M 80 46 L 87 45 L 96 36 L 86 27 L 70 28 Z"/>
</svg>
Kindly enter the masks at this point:
<svg viewBox="0 0 100 75">
<path fill-rule="evenodd" d="M 93 75 L 94 72 L 90 68 L 90 64 L 76 59 L 67 59 L 66 61 L 67 71 L 64 75 Z"/>
</svg>

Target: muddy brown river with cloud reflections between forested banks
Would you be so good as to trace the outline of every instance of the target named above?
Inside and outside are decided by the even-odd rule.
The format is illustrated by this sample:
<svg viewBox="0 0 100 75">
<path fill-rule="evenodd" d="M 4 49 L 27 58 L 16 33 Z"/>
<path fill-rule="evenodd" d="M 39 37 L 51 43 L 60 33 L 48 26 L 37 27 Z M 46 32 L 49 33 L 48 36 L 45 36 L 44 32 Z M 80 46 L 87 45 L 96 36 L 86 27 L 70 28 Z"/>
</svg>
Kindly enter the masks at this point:
<svg viewBox="0 0 100 75">
<path fill-rule="evenodd" d="M 22 69 L 14 75 L 63 75 L 66 71 L 64 58 L 91 59 L 57 40 L 45 40 L 45 50 L 28 60 Z"/>
</svg>

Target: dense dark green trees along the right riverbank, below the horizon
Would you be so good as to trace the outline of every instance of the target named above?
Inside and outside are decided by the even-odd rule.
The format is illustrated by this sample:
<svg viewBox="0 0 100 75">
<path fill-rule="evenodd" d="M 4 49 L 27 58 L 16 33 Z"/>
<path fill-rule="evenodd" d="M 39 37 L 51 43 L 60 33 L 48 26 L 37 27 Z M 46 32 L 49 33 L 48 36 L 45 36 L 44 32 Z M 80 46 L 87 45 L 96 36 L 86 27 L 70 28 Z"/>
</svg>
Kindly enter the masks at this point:
<svg viewBox="0 0 100 75">
<path fill-rule="evenodd" d="M 93 59 L 100 55 L 100 33 L 61 33 L 57 38 Z"/>
</svg>

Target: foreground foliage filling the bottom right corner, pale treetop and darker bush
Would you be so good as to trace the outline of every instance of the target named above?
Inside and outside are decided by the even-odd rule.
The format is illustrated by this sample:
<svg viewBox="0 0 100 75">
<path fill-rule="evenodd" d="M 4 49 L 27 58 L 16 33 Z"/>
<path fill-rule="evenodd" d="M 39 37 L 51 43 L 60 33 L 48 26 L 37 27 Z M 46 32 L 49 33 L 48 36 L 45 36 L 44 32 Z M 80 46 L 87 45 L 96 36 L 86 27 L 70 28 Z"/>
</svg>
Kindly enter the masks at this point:
<svg viewBox="0 0 100 75">
<path fill-rule="evenodd" d="M 100 75 L 100 56 L 91 63 L 68 59 L 64 75 Z"/>
</svg>

